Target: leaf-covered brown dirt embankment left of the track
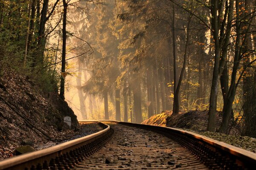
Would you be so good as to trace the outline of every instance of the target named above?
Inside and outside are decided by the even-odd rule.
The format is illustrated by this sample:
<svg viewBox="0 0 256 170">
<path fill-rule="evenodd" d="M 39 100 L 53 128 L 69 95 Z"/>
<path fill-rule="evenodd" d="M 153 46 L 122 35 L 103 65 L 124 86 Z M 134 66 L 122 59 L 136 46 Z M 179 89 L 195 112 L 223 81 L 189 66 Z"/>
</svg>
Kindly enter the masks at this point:
<svg viewBox="0 0 256 170">
<path fill-rule="evenodd" d="M 72 130 L 61 132 L 67 129 L 64 116 L 76 129 L 76 115 L 58 94 L 45 98 L 33 82 L 13 72 L 0 77 L 0 159 L 12 156 L 24 139 L 35 144 L 66 139 Z"/>
</svg>

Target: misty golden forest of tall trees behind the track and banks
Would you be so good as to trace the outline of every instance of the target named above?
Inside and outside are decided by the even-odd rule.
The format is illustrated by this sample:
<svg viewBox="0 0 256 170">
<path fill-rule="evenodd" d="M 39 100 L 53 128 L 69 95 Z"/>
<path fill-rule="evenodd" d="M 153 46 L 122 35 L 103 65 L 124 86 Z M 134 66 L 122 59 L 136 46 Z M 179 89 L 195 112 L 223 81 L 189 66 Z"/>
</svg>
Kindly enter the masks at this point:
<svg viewBox="0 0 256 170">
<path fill-rule="evenodd" d="M 81 119 L 209 110 L 207 130 L 255 136 L 255 12 L 255 0 L 0 0 L 0 74 L 63 99 L 75 77 Z"/>
</svg>

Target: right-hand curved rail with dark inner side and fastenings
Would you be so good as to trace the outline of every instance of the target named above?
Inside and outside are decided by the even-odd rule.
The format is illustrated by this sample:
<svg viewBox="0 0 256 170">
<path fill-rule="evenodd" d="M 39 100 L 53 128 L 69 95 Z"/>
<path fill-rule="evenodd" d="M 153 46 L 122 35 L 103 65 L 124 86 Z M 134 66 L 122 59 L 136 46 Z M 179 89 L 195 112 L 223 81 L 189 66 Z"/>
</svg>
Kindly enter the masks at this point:
<svg viewBox="0 0 256 170">
<path fill-rule="evenodd" d="M 121 125 L 140 127 L 147 130 L 156 131 L 176 140 L 183 147 L 188 148 L 195 155 L 199 155 L 202 161 L 214 159 L 215 163 L 237 164 L 242 169 L 254 169 L 256 166 L 256 154 L 239 147 L 210 139 L 197 133 L 189 132 L 172 127 L 162 127 L 156 125 L 145 125 L 130 122 L 120 122 L 113 120 L 99 120 L 100 122 L 115 122 Z M 186 138 L 184 138 L 186 136 Z M 192 147 L 195 147 L 193 149 Z M 198 151 L 201 150 L 201 151 Z M 205 153 L 209 152 L 209 153 Z M 208 158 L 205 156 L 209 156 Z M 218 159 L 218 160 L 217 160 Z M 219 162 L 218 162 L 219 161 Z"/>
</svg>

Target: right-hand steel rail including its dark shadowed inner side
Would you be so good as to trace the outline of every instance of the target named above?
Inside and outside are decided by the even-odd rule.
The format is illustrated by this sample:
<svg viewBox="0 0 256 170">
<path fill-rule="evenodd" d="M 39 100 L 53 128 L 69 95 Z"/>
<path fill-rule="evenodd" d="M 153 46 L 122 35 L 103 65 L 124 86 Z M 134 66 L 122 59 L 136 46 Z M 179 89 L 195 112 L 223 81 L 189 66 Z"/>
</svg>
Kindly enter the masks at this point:
<svg viewBox="0 0 256 170">
<path fill-rule="evenodd" d="M 239 147 L 235 147 L 230 144 L 226 144 L 224 142 L 220 142 L 214 139 L 210 139 L 206 136 L 199 135 L 197 133 L 189 132 L 187 130 L 181 130 L 172 127 L 163 127 L 156 125 L 146 125 L 146 124 L 138 124 L 138 123 L 130 123 L 130 122 L 120 122 L 113 120 L 98 120 L 99 122 L 114 122 L 121 125 L 128 125 L 132 127 L 140 127 L 147 130 L 157 131 L 158 133 L 164 133 L 169 137 L 175 137 L 175 134 L 180 136 L 186 136 L 188 139 L 196 140 L 197 142 L 207 145 L 208 148 L 213 150 L 215 153 L 220 153 L 222 155 L 227 156 L 228 159 L 235 160 L 236 164 L 239 164 L 243 168 L 254 169 L 256 167 L 256 154 Z M 83 121 L 79 121 L 83 122 Z M 86 122 L 86 121 L 85 121 Z M 183 141 L 184 142 L 184 141 Z M 185 141 L 186 142 L 186 141 Z M 223 158 L 223 156 L 222 156 Z M 224 160 L 222 160 L 224 161 Z"/>
</svg>

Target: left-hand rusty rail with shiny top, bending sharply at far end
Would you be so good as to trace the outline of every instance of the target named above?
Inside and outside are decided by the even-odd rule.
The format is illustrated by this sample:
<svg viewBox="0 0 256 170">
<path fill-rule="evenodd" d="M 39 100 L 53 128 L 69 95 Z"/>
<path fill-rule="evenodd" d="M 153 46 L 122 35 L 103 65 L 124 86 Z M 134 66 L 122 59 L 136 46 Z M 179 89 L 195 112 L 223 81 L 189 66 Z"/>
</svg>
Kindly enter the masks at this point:
<svg viewBox="0 0 256 170">
<path fill-rule="evenodd" d="M 69 142 L 64 142 L 62 144 L 48 147 L 46 149 L 26 153 L 9 159 L 4 159 L 0 161 L 0 170 L 22 170 L 25 169 L 26 167 L 31 167 L 32 165 L 43 163 L 45 160 L 49 161 L 50 159 L 55 158 L 56 156 L 59 157 L 62 154 L 69 152 L 70 150 L 74 150 L 78 147 L 83 146 L 84 144 L 99 139 L 102 135 L 110 131 L 109 125 L 106 125 L 102 122 L 99 123 L 106 128 L 97 133 L 93 133 L 88 136 L 81 137 L 79 139 L 74 139 Z"/>
</svg>

